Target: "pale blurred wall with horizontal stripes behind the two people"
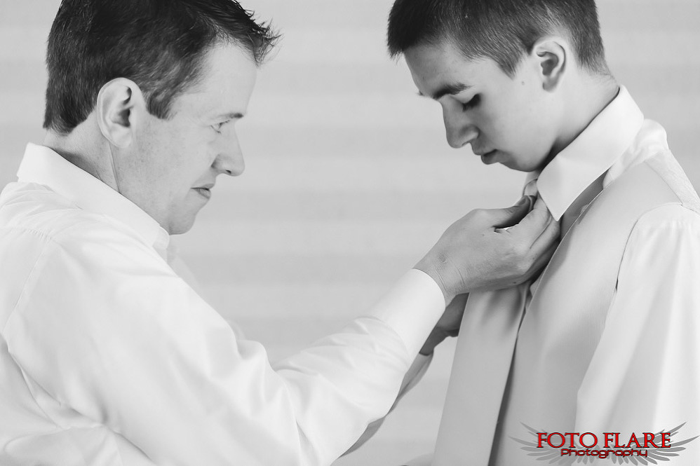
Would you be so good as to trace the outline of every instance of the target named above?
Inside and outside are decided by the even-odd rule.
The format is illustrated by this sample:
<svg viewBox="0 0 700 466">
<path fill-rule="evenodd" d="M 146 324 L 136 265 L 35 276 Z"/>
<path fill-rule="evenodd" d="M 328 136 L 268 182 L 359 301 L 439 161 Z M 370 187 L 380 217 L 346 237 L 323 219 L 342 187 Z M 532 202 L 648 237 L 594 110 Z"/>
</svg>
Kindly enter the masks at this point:
<svg viewBox="0 0 700 466">
<path fill-rule="evenodd" d="M 519 196 L 523 174 L 445 142 L 440 107 L 386 55 L 391 0 L 242 0 L 284 38 L 238 123 L 245 174 L 220 177 L 175 238 L 227 320 L 275 360 L 372 305 L 474 207 Z M 59 0 L 0 0 L 0 187 L 43 141 L 45 42 Z M 700 187 L 700 1 L 599 0 L 610 68 Z M 383 429 L 334 466 L 431 451 L 454 341 Z"/>
</svg>

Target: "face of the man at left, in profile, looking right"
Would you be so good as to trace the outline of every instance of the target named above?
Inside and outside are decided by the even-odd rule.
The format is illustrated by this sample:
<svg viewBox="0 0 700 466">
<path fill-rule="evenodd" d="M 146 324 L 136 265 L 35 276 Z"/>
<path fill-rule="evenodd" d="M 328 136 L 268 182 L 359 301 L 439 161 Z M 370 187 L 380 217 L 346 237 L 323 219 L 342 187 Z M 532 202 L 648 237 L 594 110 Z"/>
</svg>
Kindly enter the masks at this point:
<svg viewBox="0 0 700 466">
<path fill-rule="evenodd" d="M 222 45 L 203 60 L 201 79 L 173 102 L 172 117 L 146 114 L 135 129 L 125 196 L 170 234 L 184 233 L 215 179 L 243 172 L 235 123 L 248 107 L 257 68 L 245 50 Z"/>
</svg>

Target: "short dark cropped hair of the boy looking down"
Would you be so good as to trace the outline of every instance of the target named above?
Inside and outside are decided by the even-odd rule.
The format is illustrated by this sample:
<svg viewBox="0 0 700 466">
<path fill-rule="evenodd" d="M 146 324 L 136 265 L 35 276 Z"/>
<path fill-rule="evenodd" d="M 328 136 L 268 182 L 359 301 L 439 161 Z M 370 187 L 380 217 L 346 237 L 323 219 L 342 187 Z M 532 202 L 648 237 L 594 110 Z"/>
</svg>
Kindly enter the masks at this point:
<svg viewBox="0 0 700 466">
<path fill-rule="evenodd" d="M 396 0 L 387 36 L 393 57 L 447 41 L 512 77 L 534 43 L 553 32 L 568 35 L 582 67 L 609 73 L 595 0 Z"/>
</svg>

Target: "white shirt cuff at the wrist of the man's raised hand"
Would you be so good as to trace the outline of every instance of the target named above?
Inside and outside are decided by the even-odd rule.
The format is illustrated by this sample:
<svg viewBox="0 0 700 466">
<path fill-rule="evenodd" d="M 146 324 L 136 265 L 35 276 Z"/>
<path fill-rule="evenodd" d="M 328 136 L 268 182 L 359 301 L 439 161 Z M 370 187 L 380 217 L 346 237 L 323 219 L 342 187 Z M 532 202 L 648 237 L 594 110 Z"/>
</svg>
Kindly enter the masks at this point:
<svg viewBox="0 0 700 466">
<path fill-rule="evenodd" d="M 445 312 L 445 296 L 421 270 L 408 270 L 369 315 L 388 324 L 401 337 L 410 357 L 422 348 Z"/>
</svg>

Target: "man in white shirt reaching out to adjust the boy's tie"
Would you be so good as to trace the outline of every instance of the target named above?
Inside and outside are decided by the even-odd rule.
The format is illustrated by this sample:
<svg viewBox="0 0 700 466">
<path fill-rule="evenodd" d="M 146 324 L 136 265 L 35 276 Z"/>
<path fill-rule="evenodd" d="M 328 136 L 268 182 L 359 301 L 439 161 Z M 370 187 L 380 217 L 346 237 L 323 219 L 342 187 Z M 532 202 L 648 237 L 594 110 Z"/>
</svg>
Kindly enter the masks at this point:
<svg viewBox="0 0 700 466">
<path fill-rule="evenodd" d="M 271 366 L 168 235 L 243 172 L 235 123 L 274 39 L 230 0 L 62 2 L 48 134 L 0 196 L 0 464 L 328 465 L 443 338 L 445 303 L 548 260 L 542 205 L 473 212 L 375 308 Z"/>
</svg>

